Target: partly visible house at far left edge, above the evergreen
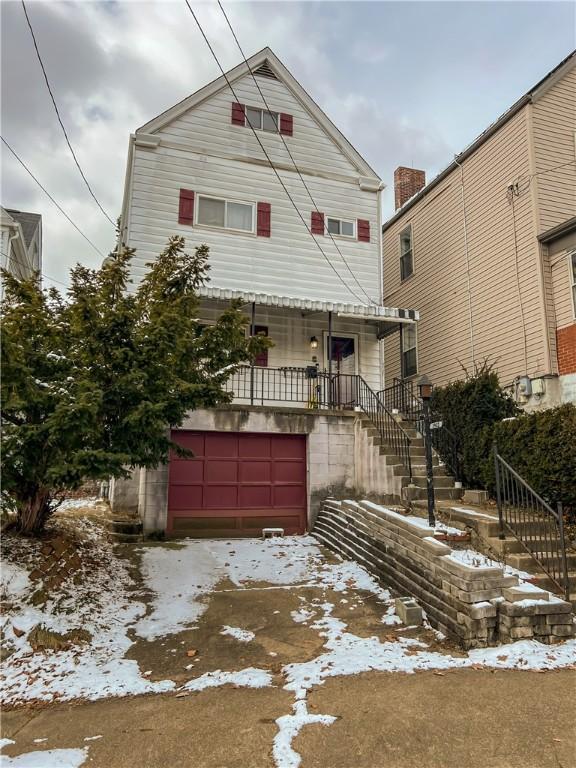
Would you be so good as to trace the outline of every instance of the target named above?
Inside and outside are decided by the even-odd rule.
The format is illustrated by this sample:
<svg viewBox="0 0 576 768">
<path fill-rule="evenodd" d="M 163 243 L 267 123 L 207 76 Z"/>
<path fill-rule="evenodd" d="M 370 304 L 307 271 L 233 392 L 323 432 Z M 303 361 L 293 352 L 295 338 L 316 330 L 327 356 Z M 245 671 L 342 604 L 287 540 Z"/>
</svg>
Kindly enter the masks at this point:
<svg viewBox="0 0 576 768">
<path fill-rule="evenodd" d="M 42 216 L 0 208 L 2 268 L 15 277 L 30 277 L 42 268 Z"/>
</svg>

